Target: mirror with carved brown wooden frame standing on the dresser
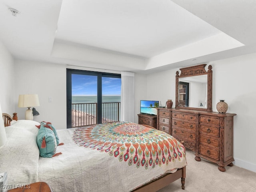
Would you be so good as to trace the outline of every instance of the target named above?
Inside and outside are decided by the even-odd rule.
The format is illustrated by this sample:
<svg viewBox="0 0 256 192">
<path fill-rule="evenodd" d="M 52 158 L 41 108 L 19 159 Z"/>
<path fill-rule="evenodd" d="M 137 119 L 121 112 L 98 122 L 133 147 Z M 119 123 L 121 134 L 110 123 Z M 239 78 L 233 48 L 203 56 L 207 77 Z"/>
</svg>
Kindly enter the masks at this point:
<svg viewBox="0 0 256 192">
<path fill-rule="evenodd" d="M 212 66 L 206 64 L 181 68 L 176 72 L 175 108 L 212 111 Z"/>
</svg>

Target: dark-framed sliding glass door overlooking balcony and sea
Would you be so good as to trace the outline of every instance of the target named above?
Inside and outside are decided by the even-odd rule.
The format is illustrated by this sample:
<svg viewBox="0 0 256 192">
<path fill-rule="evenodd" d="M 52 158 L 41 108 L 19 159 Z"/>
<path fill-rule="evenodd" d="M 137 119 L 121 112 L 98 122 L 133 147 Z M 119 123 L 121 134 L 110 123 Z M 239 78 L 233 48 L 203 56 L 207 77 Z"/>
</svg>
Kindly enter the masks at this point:
<svg viewBox="0 0 256 192">
<path fill-rule="evenodd" d="M 121 76 L 67 69 L 67 128 L 120 120 Z"/>
</svg>

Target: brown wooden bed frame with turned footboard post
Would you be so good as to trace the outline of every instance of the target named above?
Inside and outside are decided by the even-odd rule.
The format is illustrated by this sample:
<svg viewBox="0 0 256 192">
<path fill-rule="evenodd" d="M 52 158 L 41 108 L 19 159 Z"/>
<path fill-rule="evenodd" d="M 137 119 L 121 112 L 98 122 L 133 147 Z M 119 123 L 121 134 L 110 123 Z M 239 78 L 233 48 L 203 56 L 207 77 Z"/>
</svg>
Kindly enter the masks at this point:
<svg viewBox="0 0 256 192">
<path fill-rule="evenodd" d="M 11 117 L 9 114 L 6 114 L 6 113 L 3 113 L 2 116 L 4 118 L 4 126 L 9 126 L 12 120 L 18 120 L 17 113 L 14 113 L 13 117 Z M 143 126 L 156 129 L 148 125 L 143 125 Z M 165 186 L 178 180 L 179 178 L 181 178 L 181 184 L 182 184 L 181 188 L 185 189 L 186 166 L 178 169 L 174 173 L 165 173 L 162 176 L 132 190 L 132 192 L 156 192 L 157 190 L 164 188 Z"/>
</svg>

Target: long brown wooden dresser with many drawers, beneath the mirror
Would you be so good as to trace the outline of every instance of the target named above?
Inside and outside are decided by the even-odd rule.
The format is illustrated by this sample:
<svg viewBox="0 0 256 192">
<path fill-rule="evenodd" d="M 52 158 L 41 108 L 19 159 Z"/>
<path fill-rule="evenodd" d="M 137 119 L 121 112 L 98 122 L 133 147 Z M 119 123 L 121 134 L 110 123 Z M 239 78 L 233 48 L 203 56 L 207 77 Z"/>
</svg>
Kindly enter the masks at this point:
<svg viewBox="0 0 256 192">
<path fill-rule="evenodd" d="M 157 108 L 157 129 L 171 134 L 195 152 L 195 160 L 207 159 L 225 166 L 233 166 L 233 117 L 236 114 Z"/>
</svg>

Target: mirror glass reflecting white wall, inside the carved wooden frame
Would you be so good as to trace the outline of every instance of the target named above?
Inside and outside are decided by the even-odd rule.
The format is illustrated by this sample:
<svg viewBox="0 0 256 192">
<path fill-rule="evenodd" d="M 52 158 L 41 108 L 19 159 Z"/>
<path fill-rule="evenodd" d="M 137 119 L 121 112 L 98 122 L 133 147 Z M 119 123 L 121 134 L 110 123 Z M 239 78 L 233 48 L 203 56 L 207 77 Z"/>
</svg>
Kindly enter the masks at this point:
<svg viewBox="0 0 256 192">
<path fill-rule="evenodd" d="M 179 106 L 207 108 L 207 75 L 179 78 Z"/>
</svg>

